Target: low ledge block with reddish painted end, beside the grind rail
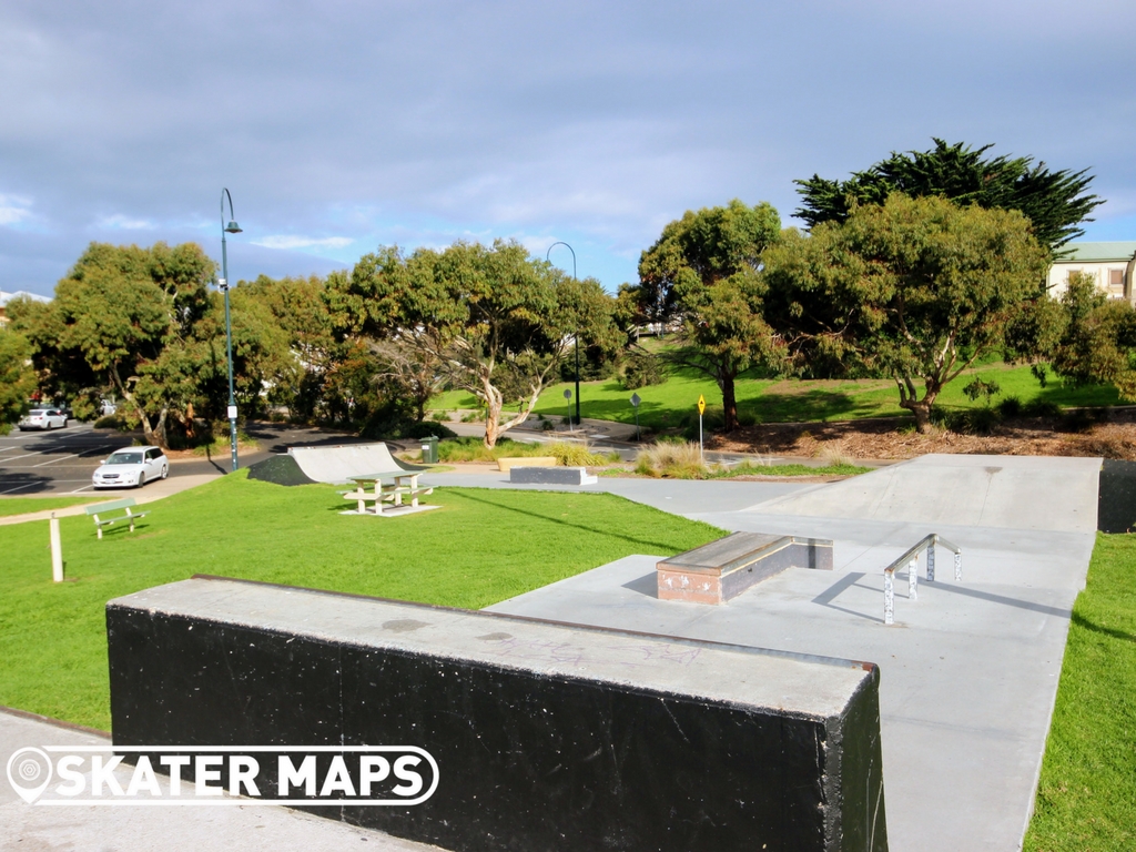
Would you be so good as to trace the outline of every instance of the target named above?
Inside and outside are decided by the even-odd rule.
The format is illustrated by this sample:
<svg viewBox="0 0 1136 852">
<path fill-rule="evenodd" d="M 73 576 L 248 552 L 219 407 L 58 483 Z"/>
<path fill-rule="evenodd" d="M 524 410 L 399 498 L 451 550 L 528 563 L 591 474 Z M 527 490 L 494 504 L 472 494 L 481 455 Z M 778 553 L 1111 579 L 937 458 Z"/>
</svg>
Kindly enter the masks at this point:
<svg viewBox="0 0 1136 852">
<path fill-rule="evenodd" d="M 787 568 L 833 570 L 833 543 L 793 535 L 734 533 L 660 561 L 659 599 L 725 603 Z"/>
</svg>

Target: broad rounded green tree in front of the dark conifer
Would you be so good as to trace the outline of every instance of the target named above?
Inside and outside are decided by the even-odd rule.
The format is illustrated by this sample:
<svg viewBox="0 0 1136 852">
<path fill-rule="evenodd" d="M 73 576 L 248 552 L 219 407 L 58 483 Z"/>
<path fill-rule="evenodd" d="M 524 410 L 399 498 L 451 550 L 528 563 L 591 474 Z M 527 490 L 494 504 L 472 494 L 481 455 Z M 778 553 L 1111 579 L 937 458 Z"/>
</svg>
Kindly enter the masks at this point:
<svg viewBox="0 0 1136 852">
<path fill-rule="evenodd" d="M 920 432 L 943 387 L 1047 299 L 1047 253 L 1022 214 L 936 197 L 854 207 L 765 261 L 766 317 L 797 366 L 891 376 Z"/>
</svg>

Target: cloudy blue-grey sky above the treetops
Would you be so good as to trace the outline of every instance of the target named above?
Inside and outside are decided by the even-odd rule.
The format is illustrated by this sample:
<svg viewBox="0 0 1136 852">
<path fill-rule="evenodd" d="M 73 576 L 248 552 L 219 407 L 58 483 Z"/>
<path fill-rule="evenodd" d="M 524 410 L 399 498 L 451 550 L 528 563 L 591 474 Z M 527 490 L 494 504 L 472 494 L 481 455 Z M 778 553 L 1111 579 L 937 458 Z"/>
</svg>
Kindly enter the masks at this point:
<svg viewBox="0 0 1136 852">
<path fill-rule="evenodd" d="M 219 262 L 227 187 L 231 281 L 501 237 L 613 292 L 687 209 L 799 225 L 794 178 L 933 136 L 1089 169 L 1086 239 L 1136 240 L 1134 41 L 1130 0 L 5 0 L 0 290 Z"/>
</svg>

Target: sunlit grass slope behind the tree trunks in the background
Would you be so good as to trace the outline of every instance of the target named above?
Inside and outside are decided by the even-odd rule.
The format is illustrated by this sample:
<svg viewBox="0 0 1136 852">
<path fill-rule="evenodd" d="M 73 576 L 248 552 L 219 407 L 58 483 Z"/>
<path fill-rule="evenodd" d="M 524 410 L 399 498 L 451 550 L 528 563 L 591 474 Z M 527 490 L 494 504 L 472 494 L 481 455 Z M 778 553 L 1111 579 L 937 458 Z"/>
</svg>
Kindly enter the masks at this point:
<svg viewBox="0 0 1136 852">
<path fill-rule="evenodd" d="M 983 404 L 967 399 L 962 389 L 972 376 L 994 381 L 1002 393 L 994 399 L 1018 396 L 1024 403 L 1053 402 L 1059 406 L 1114 406 L 1120 402 L 1117 390 L 1109 386 L 1067 387 L 1056 377 L 1050 377 L 1045 387 L 1034 378 L 1026 366 L 1001 362 L 984 365 L 960 376 L 946 386 L 938 404 L 945 409 L 975 408 Z M 536 412 L 550 418 L 566 417 L 568 404 L 563 392 L 574 387 L 561 383 L 546 389 L 536 406 Z M 630 406 L 632 391 L 618 379 L 585 382 L 580 384 L 580 414 L 584 417 L 619 423 L 635 423 Z M 642 399 L 640 425 L 649 429 L 678 426 L 695 415 L 699 394 L 705 396 L 712 414 L 720 410 L 721 392 L 712 381 L 691 369 L 677 369 L 661 385 L 634 391 Z M 477 400 L 463 391 L 449 391 L 432 403 L 434 409 L 477 408 Z M 854 420 L 863 417 L 894 417 L 905 412 L 899 407 L 895 383 L 888 379 L 859 381 L 797 381 L 743 378 L 737 382 L 738 416 L 743 423 L 802 423 L 811 420 Z M 573 403 L 575 417 L 575 403 Z"/>
</svg>

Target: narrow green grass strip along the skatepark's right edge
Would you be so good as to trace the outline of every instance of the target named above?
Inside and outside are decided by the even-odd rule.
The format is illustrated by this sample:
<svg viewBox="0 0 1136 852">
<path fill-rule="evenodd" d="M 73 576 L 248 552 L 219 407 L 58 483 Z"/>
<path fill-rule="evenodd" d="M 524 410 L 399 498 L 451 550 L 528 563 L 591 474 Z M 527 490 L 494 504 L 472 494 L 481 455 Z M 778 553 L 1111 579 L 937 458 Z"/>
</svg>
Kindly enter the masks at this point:
<svg viewBox="0 0 1136 852">
<path fill-rule="evenodd" d="M 1077 596 L 1027 852 L 1136 849 L 1136 536 L 1099 535 Z"/>
</svg>

